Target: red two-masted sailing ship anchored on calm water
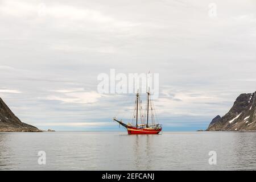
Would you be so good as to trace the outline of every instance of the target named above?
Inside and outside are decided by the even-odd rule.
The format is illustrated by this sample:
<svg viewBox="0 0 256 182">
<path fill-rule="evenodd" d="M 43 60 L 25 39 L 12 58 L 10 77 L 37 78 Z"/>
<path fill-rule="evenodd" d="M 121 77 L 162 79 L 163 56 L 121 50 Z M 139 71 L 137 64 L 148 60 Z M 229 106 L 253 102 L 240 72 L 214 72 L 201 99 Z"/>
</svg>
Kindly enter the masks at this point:
<svg viewBox="0 0 256 182">
<path fill-rule="evenodd" d="M 150 100 L 150 92 L 148 89 L 147 92 L 147 106 L 146 106 L 146 113 L 143 115 L 141 107 L 141 100 L 139 96 L 139 92 L 136 94 L 136 101 L 135 101 L 135 108 L 134 108 L 134 114 L 133 119 L 136 119 L 136 125 L 132 125 L 131 123 L 123 123 L 122 119 L 118 120 L 114 117 L 114 121 L 118 122 L 119 125 L 122 125 L 127 129 L 127 132 L 129 135 L 138 135 L 138 134 L 159 134 L 162 131 L 162 125 L 155 123 L 154 118 L 154 109 L 152 100 Z M 144 117 L 146 115 L 146 117 Z M 148 124 L 149 117 L 151 115 L 151 124 Z M 138 123 L 138 119 L 141 119 L 141 123 Z M 133 123 L 133 121 L 132 121 Z"/>
</svg>

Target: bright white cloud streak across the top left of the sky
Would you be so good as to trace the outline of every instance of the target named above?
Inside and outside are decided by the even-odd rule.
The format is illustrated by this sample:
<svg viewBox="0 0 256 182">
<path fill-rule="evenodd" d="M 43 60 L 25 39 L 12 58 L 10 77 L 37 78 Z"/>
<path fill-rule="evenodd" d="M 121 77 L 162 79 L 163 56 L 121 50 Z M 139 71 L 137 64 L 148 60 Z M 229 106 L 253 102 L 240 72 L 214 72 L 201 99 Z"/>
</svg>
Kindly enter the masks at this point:
<svg viewBox="0 0 256 182">
<path fill-rule="evenodd" d="M 43 5 L 43 6 L 42 6 Z M 112 24 L 115 27 L 133 27 L 138 23 L 119 20 L 112 16 L 102 14 L 98 10 L 85 9 L 75 6 L 62 5 L 62 3 L 36 3 L 28 1 L 3 1 L 0 12 L 12 16 L 30 16 L 38 18 L 40 11 L 44 11 L 44 18 L 79 20 L 82 22 L 94 22 Z"/>
</svg>

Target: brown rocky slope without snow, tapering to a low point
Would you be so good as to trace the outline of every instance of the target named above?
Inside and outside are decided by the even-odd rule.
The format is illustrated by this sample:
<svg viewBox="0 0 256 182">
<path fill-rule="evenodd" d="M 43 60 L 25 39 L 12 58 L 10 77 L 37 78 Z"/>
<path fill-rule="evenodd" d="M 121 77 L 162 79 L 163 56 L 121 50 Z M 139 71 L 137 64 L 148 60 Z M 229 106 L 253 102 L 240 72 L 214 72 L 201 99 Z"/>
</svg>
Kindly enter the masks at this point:
<svg viewBox="0 0 256 182">
<path fill-rule="evenodd" d="M 41 131 L 35 126 L 23 123 L 0 98 L 0 132 L 6 131 Z"/>
</svg>

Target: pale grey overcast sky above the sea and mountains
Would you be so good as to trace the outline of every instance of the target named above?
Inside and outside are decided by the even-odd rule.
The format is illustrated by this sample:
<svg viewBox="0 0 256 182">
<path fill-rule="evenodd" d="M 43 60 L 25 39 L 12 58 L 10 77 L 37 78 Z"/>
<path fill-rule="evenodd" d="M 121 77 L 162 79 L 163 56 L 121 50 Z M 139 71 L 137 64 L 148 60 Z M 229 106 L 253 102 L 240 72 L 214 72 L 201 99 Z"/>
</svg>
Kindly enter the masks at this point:
<svg viewBox="0 0 256 182">
<path fill-rule="evenodd" d="M 0 0 L 0 97 L 40 129 L 123 131 L 112 118 L 134 102 L 98 93 L 97 76 L 151 71 L 164 129 L 206 129 L 256 90 L 255 10 L 254 0 Z"/>
</svg>

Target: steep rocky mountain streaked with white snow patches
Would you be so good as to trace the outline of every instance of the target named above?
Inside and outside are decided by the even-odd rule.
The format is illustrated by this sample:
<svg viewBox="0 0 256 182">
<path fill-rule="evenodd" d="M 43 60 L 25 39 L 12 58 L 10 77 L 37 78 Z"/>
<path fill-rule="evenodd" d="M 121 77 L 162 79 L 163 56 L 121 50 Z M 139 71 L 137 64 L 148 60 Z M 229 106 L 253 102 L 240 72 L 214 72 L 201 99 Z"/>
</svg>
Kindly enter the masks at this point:
<svg viewBox="0 0 256 182">
<path fill-rule="evenodd" d="M 237 97 L 223 117 L 217 115 L 207 131 L 256 131 L 256 92 Z"/>
</svg>

